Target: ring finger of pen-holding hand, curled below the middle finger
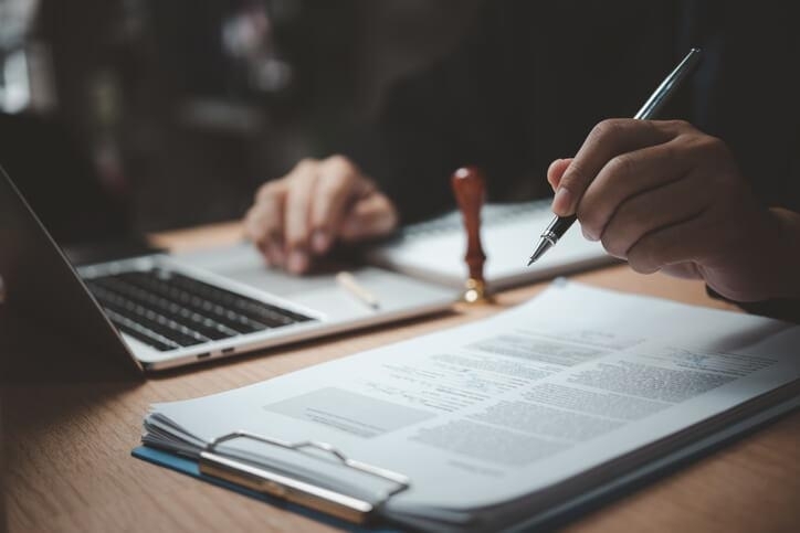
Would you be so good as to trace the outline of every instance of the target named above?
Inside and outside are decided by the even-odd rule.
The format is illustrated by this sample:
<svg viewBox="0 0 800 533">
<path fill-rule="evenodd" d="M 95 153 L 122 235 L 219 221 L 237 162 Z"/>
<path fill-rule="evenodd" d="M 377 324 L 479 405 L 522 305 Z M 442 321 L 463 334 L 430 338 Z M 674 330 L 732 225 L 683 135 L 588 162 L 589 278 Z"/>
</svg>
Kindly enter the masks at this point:
<svg viewBox="0 0 800 533">
<path fill-rule="evenodd" d="M 694 180 L 684 178 L 622 202 L 602 230 L 609 254 L 625 258 L 645 235 L 698 217 L 712 203 L 710 193 L 697 191 Z"/>
</svg>

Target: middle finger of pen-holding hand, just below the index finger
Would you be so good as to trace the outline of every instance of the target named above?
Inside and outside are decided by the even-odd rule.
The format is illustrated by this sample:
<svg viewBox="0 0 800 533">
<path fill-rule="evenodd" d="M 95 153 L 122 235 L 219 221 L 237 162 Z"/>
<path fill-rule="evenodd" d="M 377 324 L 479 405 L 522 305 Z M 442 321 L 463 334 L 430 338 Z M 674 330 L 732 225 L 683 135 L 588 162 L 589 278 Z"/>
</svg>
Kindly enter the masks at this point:
<svg viewBox="0 0 800 533">
<path fill-rule="evenodd" d="M 691 169 L 691 158 L 680 157 L 676 139 L 612 158 L 598 172 L 578 203 L 583 235 L 597 241 L 614 212 L 628 199 L 681 180 Z M 691 194 L 691 193 L 690 193 Z M 667 205 L 654 205 L 656 210 Z"/>
</svg>

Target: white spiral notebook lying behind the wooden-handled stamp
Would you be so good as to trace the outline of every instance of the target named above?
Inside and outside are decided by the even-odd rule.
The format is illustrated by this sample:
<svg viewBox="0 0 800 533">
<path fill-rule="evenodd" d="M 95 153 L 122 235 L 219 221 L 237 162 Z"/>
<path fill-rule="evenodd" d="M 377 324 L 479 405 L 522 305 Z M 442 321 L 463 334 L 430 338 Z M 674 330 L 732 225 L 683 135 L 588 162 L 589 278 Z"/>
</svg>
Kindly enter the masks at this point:
<svg viewBox="0 0 800 533">
<path fill-rule="evenodd" d="M 481 214 L 481 238 L 486 253 L 484 277 L 498 290 L 552 278 L 568 271 L 613 263 L 602 245 L 567 233 L 558 243 L 558 254 L 548 254 L 526 266 L 534 239 L 552 220 L 550 200 L 487 204 Z M 526 244 L 527 243 L 527 244 Z M 371 264 L 409 276 L 461 288 L 467 278 L 464 263 L 466 232 L 461 213 L 452 212 L 431 221 L 403 227 L 399 235 L 367 253 Z"/>
</svg>

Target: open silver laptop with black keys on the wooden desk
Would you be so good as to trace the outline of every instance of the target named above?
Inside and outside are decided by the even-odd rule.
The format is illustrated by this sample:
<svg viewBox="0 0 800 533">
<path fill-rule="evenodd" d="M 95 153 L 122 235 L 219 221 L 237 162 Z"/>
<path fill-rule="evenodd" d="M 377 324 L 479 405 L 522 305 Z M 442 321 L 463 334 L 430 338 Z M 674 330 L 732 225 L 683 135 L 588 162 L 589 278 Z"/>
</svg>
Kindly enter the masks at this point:
<svg viewBox="0 0 800 533">
<path fill-rule="evenodd" d="M 151 372 L 448 309 L 451 288 L 377 267 L 350 270 L 366 305 L 324 273 L 294 277 L 248 243 L 76 264 L 0 167 L 0 305 L 96 353 Z"/>
</svg>

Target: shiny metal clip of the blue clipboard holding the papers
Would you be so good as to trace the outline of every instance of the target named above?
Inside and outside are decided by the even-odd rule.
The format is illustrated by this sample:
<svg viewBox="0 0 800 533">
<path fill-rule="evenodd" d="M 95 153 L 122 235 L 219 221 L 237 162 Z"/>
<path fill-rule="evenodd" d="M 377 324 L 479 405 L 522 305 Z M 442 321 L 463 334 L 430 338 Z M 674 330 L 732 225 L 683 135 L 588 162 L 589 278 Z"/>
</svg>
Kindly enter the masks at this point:
<svg viewBox="0 0 800 533">
<path fill-rule="evenodd" d="M 396 487 L 385 492 L 377 502 L 368 502 L 335 490 L 317 487 L 306 481 L 270 471 L 264 467 L 223 456 L 217 450 L 219 445 L 238 438 L 246 438 L 288 450 L 314 448 L 325 451 L 338 459 L 345 467 L 390 481 L 394 483 Z M 220 478 L 240 487 L 282 498 L 293 503 L 299 503 L 301 505 L 306 505 L 356 524 L 366 523 L 373 515 L 373 512 L 392 495 L 402 492 L 411 486 L 408 477 L 366 462 L 349 459 L 327 443 L 315 440 L 288 443 L 243 430 L 229 433 L 209 443 L 200 452 L 198 462 L 200 472 L 203 475 Z"/>
</svg>

